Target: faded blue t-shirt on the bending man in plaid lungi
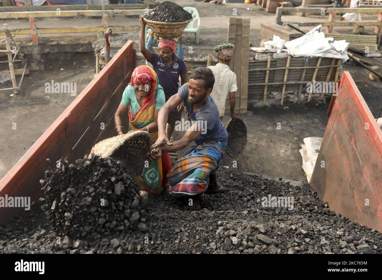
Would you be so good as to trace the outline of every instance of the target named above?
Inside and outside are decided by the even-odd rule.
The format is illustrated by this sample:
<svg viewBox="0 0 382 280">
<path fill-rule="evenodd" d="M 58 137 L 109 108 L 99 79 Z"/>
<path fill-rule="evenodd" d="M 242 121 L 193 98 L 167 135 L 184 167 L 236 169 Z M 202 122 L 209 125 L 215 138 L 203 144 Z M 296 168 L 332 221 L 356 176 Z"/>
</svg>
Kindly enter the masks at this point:
<svg viewBox="0 0 382 280">
<path fill-rule="evenodd" d="M 190 122 L 196 123 L 202 131 L 202 134 L 195 139 L 196 144 L 228 139 L 227 130 L 220 121 L 219 110 L 211 96 L 207 96 L 207 102 L 203 107 L 193 112 L 192 105 L 188 102 L 188 83 L 179 88 L 178 94 L 185 101 L 186 117 Z"/>
</svg>

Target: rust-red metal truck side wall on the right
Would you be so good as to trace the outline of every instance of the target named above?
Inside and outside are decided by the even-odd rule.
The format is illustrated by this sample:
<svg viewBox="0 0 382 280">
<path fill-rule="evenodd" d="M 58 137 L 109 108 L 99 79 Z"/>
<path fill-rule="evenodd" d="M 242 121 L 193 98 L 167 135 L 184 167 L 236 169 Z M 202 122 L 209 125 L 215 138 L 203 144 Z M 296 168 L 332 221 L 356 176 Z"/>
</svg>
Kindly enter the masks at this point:
<svg viewBox="0 0 382 280">
<path fill-rule="evenodd" d="M 382 132 L 347 71 L 328 115 L 311 186 L 336 213 L 382 232 Z"/>
</svg>

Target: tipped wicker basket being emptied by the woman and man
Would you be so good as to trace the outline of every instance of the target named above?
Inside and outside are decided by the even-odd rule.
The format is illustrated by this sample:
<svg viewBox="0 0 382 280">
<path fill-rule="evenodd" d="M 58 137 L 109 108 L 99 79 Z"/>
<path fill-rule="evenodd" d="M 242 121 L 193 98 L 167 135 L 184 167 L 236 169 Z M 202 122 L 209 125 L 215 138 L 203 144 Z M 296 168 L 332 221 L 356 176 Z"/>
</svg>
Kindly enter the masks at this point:
<svg viewBox="0 0 382 280">
<path fill-rule="evenodd" d="M 92 148 L 89 158 L 100 155 L 101 158 L 112 157 L 120 160 L 126 171 L 136 179 L 142 174 L 146 153 L 151 148 L 151 137 L 146 131 L 133 131 L 99 141 Z M 118 152 L 116 152 L 118 150 Z"/>
</svg>

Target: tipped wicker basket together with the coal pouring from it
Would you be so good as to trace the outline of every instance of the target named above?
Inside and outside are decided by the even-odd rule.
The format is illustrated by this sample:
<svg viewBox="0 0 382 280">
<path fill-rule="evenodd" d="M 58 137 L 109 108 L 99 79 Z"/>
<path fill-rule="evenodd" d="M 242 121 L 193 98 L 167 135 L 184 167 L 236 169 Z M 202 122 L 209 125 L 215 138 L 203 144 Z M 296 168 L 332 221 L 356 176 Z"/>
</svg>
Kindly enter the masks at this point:
<svg viewBox="0 0 382 280">
<path fill-rule="evenodd" d="M 47 172 L 47 183 L 42 180 L 45 198 L 40 201 L 52 229 L 58 234 L 86 238 L 125 230 L 146 232 L 133 177 L 142 173 L 150 144 L 151 138 L 144 131 L 116 136 L 95 144 L 83 164 L 81 159 L 76 160 L 78 166 L 64 161 L 51 176 Z"/>
</svg>

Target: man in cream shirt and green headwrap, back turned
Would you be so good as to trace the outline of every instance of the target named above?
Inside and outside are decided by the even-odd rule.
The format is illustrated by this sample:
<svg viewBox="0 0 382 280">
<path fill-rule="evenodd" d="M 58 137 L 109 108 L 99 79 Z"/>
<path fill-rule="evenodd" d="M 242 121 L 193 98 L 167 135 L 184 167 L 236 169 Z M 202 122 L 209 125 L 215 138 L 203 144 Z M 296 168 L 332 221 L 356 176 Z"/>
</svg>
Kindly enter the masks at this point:
<svg viewBox="0 0 382 280">
<path fill-rule="evenodd" d="M 215 46 L 214 51 L 217 52 L 218 63 L 215 66 L 209 66 L 215 76 L 215 83 L 210 96 L 214 99 L 218 109 L 220 120 L 223 121 L 225 100 L 230 94 L 230 114 L 231 118 L 236 120 L 235 115 L 235 92 L 237 90 L 236 74 L 230 70 L 228 66 L 232 58 L 234 45 L 231 43 L 223 43 Z"/>
</svg>

